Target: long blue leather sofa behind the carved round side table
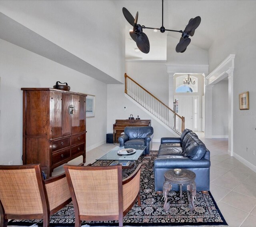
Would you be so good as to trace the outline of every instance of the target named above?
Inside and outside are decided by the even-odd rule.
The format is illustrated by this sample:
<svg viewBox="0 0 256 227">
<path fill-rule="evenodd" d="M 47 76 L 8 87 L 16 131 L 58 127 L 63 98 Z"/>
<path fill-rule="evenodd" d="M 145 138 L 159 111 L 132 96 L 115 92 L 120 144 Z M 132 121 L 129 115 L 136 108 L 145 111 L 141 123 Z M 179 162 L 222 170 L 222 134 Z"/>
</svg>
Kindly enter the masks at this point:
<svg viewBox="0 0 256 227">
<path fill-rule="evenodd" d="M 184 129 L 181 137 L 161 138 L 158 156 L 154 160 L 155 191 L 162 191 L 164 173 L 175 168 L 196 173 L 197 191 L 210 190 L 210 151 L 190 129 Z M 172 190 L 179 191 L 178 184 L 172 185 Z M 186 190 L 186 185 L 182 190 Z"/>
</svg>

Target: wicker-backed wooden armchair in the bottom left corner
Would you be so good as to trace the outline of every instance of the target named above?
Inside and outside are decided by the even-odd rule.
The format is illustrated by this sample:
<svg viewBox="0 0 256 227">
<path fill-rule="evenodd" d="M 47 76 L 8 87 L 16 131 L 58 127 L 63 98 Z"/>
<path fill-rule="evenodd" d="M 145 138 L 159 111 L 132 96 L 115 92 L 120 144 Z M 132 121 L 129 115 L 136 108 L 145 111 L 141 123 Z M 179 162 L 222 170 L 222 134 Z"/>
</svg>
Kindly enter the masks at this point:
<svg viewBox="0 0 256 227">
<path fill-rule="evenodd" d="M 8 219 L 44 219 L 71 202 L 66 175 L 42 179 L 40 164 L 0 165 L 0 227 Z"/>
</svg>

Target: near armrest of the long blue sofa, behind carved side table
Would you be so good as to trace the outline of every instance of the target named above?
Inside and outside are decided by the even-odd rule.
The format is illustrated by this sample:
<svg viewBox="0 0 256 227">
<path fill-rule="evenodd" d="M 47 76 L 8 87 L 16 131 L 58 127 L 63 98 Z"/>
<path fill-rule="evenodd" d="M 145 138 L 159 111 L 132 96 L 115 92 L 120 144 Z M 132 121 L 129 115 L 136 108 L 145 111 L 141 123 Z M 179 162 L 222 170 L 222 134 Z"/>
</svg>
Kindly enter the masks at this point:
<svg viewBox="0 0 256 227">
<path fill-rule="evenodd" d="M 200 160 L 192 160 L 189 157 L 168 158 L 158 157 L 154 160 L 154 169 L 194 169 L 194 168 L 209 168 L 210 160 L 201 158 Z"/>
</svg>

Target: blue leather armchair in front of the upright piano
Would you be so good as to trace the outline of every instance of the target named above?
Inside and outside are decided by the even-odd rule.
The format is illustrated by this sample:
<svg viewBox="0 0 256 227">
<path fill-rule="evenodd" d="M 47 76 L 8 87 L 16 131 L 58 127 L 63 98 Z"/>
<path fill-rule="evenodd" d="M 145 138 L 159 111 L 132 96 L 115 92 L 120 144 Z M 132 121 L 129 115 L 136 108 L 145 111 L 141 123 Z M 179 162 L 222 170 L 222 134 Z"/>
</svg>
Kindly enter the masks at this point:
<svg viewBox="0 0 256 227">
<path fill-rule="evenodd" d="M 152 149 L 152 138 L 154 130 L 151 126 L 125 127 L 124 135 L 118 138 L 120 147 L 122 146 L 146 146 L 143 154 L 148 155 Z"/>
</svg>

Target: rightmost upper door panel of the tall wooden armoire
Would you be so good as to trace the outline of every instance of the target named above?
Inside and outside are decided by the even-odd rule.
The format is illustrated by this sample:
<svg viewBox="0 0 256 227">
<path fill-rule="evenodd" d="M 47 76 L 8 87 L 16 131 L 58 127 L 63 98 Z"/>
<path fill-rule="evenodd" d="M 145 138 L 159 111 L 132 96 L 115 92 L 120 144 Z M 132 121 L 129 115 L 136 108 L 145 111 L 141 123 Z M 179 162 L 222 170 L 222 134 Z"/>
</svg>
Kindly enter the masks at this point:
<svg viewBox="0 0 256 227">
<path fill-rule="evenodd" d="M 72 105 L 72 134 L 81 133 L 85 131 L 85 97 L 72 95 Z"/>
</svg>

